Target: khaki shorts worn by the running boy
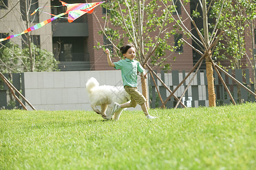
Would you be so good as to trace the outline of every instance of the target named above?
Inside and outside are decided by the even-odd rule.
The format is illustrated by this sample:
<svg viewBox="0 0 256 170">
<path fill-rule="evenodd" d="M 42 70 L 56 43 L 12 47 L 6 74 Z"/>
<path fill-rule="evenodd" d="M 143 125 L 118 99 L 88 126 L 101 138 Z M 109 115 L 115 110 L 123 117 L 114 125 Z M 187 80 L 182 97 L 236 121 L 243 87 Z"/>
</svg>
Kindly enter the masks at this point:
<svg viewBox="0 0 256 170">
<path fill-rule="evenodd" d="M 125 86 L 125 91 L 131 96 L 131 106 L 136 107 L 137 104 L 142 105 L 147 100 L 146 98 L 138 91 L 137 87 Z"/>
</svg>

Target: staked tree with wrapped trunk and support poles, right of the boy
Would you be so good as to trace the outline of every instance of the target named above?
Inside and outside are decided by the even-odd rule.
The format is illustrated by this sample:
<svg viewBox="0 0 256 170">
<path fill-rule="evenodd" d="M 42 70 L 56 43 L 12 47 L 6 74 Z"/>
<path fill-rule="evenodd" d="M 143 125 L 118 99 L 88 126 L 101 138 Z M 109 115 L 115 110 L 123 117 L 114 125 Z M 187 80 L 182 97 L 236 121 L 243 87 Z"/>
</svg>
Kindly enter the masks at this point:
<svg viewBox="0 0 256 170">
<path fill-rule="evenodd" d="M 179 0 L 180 1 L 180 0 Z M 163 2 L 163 1 L 162 1 Z M 174 3 L 174 1 L 172 1 L 172 3 Z M 182 2 L 180 1 L 181 5 Z M 199 53 L 201 55 L 201 58 L 199 59 L 199 61 L 197 61 L 196 65 L 198 65 L 204 58 L 205 58 L 205 62 L 207 63 L 207 81 L 208 81 L 208 94 L 209 94 L 209 106 L 216 106 L 216 101 L 215 101 L 215 93 L 214 93 L 214 78 L 213 78 L 213 67 L 216 70 L 219 78 L 221 79 L 221 82 L 224 84 L 224 87 L 226 89 L 226 91 L 228 92 L 230 99 L 232 99 L 233 104 L 236 104 L 236 102 L 234 101 L 232 95 L 229 92 L 228 87 L 226 87 L 226 84 L 224 82 L 224 80 L 222 79 L 219 70 L 224 72 L 226 75 L 228 75 L 230 78 L 232 78 L 236 83 L 238 83 L 241 87 L 245 88 L 247 91 L 249 91 L 251 94 L 253 94 L 256 97 L 256 94 L 254 94 L 254 92 L 250 91 L 249 88 L 243 86 L 242 83 L 240 83 L 238 80 L 236 80 L 235 78 L 233 78 L 233 76 L 229 75 L 228 73 L 226 73 L 225 70 L 221 69 L 220 66 L 216 65 L 216 63 L 213 62 L 212 59 L 212 54 L 213 54 L 213 50 L 216 47 L 218 41 L 220 41 L 221 36 L 224 34 L 224 30 L 221 29 L 220 31 L 217 29 L 217 25 L 218 24 L 224 24 L 226 22 L 226 20 L 222 20 L 220 22 L 220 18 L 221 18 L 221 14 L 223 14 L 222 12 L 224 12 L 224 3 L 225 1 L 221 2 L 221 6 L 219 6 L 218 8 L 218 13 L 217 13 L 217 17 L 214 18 L 215 19 L 215 23 L 213 26 L 213 29 L 211 31 L 211 33 L 209 33 L 209 29 L 208 29 L 208 25 L 210 23 L 208 23 L 208 11 L 210 10 L 210 7 L 212 5 L 212 3 L 214 3 L 214 1 L 210 1 L 210 3 L 208 4 L 208 8 L 207 8 L 207 2 L 205 0 L 201 0 L 199 1 L 199 6 L 202 9 L 202 14 L 203 14 L 203 29 L 199 30 L 197 28 L 197 25 L 195 23 L 195 21 L 191 18 L 191 16 L 189 15 L 189 13 L 187 12 L 187 10 L 185 9 L 184 5 L 182 5 L 184 11 L 187 13 L 188 18 L 191 20 L 191 23 L 193 24 L 193 26 L 195 27 L 195 30 L 197 32 L 197 35 L 199 36 L 199 39 L 197 39 L 197 37 L 195 35 L 193 35 L 193 33 L 191 31 L 189 31 L 189 28 L 187 28 L 184 24 L 183 24 L 183 20 L 181 20 L 181 18 L 175 20 L 175 22 L 177 24 L 179 24 L 179 27 L 185 32 L 187 33 L 187 35 L 189 35 L 191 37 L 191 39 L 193 41 L 195 41 L 195 43 L 200 47 L 200 49 L 195 48 L 195 46 L 190 45 L 187 41 L 185 41 L 184 39 L 182 39 L 184 42 L 186 42 L 188 45 L 191 46 L 191 48 L 193 50 L 195 50 L 197 53 Z M 168 10 L 168 8 L 166 7 L 166 9 Z M 171 17 L 174 18 L 174 16 L 172 16 L 171 12 L 169 12 Z M 197 12 L 193 11 L 192 16 L 196 16 Z M 225 12 L 224 12 L 225 13 Z M 196 14 L 196 15 L 195 15 Z M 203 32 L 203 33 L 202 33 Z M 204 36 L 203 36 L 204 35 Z M 196 66 L 195 65 L 195 66 Z M 195 66 L 193 67 L 193 69 L 195 69 Z M 189 74 L 192 73 L 193 69 L 191 70 L 191 72 Z M 188 75 L 189 75 L 188 74 Z M 184 78 L 183 81 L 181 81 L 181 83 L 183 83 L 185 81 L 185 79 L 188 78 L 188 75 Z M 180 83 L 180 84 L 181 84 Z M 179 85 L 180 86 L 180 85 Z M 178 86 L 178 87 L 179 87 Z M 176 88 L 177 89 L 177 88 Z M 176 90 L 175 89 L 175 90 Z M 174 90 L 174 92 L 175 92 Z M 174 93 L 173 92 L 173 93 Z M 172 94 L 173 94 L 172 93 Z M 172 95 L 171 94 L 171 95 Z M 171 96 L 170 95 L 170 96 Z M 167 98 L 170 99 L 170 96 Z M 166 101 L 167 101 L 166 100 Z M 164 102 L 166 103 L 166 102 Z"/>
</svg>

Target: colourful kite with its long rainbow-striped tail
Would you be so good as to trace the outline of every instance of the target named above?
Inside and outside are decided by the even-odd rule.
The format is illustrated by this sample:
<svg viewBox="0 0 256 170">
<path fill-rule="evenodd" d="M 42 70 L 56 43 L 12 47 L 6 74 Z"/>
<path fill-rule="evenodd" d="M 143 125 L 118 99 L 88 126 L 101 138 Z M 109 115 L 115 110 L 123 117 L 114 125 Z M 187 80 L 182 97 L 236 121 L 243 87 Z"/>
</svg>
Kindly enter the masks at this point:
<svg viewBox="0 0 256 170">
<path fill-rule="evenodd" d="M 82 16 L 86 13 L 92 14 L 95 7 L 97 7 L 98 5 L 100 5 L 101 3 L 104 3 L 106 1 L 104 1 L 104 2 L 93 2 L 93 3 L 72 3 L 72 4 L 65 3 L 63 1 L 60 1 L 60 2 L 62 3 L 62 6 L 67 6 L 66 12 L 61 13 L 59 15 L 49 14 L 49 13 L 45 12 L 49 15 L 53 15 L 53 17 L 51 19 L 47 19 L 44 22 L 41 22 L 39 24 L 36 24 L 36 25 L 26 29 L 22 33 L 19 33 L 19 34 L 16 34 L 16 35 L 11 35 L 9 37 L 6 37 L 5 39 L 0 39 L 0 42 L 5 41 L 5 40 L 9 40 L 13 37 L 23 35 L 24 33 L 27 33 L 27 32 L 33 31 L 35 29 L 41 28 L 44 25 L 52 22 L 53 20 L 55 20 L 57 18 L 62 18 L 61 16 L 66 15 L 66 14 L 68 14 L 68 22 L 72 23 L 75 19 L 79 18 L 80 16 Z M 54 6 L 54 7 L 60 7 L 60 6 Z M 39 10 L 40 8 L 43 8 L 43 7 L 37 8 L 31 15 L 34 15 L 35 12 L 40 11 Z M 43 12 L 43 11 L 41 11 L 41 12 Z"/>
</svg>

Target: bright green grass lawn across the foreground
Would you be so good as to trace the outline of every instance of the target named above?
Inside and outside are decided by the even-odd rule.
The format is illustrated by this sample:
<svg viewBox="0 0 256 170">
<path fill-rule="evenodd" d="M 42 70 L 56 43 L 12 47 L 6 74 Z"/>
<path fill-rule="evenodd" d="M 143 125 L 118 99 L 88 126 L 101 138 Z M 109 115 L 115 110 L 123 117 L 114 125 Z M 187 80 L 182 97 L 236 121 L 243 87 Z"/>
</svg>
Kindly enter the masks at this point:
<svg viewBox="0 0 256 170">
<path fill-rule="evenodd" d="M 254 169 L 256 104 L 125 111 L 0 111 L 0 169 Z"/>
</svg>

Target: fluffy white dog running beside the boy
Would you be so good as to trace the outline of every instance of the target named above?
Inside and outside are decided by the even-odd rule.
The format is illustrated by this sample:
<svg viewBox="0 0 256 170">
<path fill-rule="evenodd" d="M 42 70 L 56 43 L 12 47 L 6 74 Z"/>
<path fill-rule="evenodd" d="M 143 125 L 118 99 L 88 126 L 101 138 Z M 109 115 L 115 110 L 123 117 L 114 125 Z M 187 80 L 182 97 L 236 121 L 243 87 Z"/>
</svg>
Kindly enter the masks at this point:
<svg viewBox="0 0 256 170">
<path fill-rule="evenodd" d="M 114 120 L 118 120 L 123 111 L 123 109 L 119 109 L 113 116 L 111 111 L 114 102 L 123 104 L 130 100 L 130 95 L 127 94 L 122 86 L 100 86 L 96 78 L 93 77 L 87 81 L 86 90 L 89 93 L 90 106 L 93 111 L 108 120 L 112 117 Z M 97 105 L 100 105 L 100 110 L 96 108 Z"/>
</svg>

